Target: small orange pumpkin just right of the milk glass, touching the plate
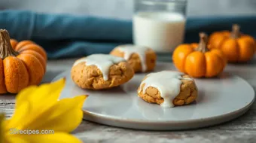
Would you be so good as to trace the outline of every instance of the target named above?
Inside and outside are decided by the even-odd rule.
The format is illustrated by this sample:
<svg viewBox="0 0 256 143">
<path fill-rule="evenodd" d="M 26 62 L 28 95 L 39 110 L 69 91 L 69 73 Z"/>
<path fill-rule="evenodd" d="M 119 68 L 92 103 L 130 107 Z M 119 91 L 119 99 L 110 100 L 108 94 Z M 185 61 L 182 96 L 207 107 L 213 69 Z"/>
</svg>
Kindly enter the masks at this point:
<svg viewBox="0 0 256 143">
<path fill-rule="evenodd" d="M 212 78 L 220 74 L 226 64 L 221 50 L 209 50 L 208 36 L 201 32 L 200 43 L 180 44 L 175 48 L 172 61 L 179 71 L 193 78 Z"/>
</svg>

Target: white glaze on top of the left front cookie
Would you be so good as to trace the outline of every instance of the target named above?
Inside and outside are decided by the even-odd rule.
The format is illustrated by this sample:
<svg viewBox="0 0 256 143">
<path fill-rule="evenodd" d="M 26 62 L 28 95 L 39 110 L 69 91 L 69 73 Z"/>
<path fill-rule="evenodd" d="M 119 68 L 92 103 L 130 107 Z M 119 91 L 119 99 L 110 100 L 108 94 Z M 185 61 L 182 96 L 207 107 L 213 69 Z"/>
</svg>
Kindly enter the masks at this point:
<svg viewBox="0 0 256 143">
<path fill-rule="evenodd" d="M 78 59 L 73 66 L 78 65 L 78 63 L 81 62 L 85 62 L 86 65 L 96 65 L 97 68 L 99 68 L 99 70 L 102 71 L 103 79 L 105 81 L 108 81 L 108 73 L 111 65 L 124 61 L 126 60 L 121 57 L 99 53 Z"/>
</svg>

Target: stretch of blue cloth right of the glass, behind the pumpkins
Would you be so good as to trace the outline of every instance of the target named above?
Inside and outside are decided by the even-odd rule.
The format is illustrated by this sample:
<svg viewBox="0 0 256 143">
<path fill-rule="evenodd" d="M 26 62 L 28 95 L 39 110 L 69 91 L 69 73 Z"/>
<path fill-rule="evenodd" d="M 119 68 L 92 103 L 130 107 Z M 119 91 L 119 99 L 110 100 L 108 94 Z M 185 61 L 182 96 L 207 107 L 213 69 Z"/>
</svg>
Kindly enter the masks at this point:
<svg viewBox="0 0 256 143">
<path fill-rule="evenodd" d="M 256 38 L 256 16 L 239 17 L 189 17 L 186 23 L 186 34 L 184 42 L 198 42 L 199 32 L 212 32 L 231 30 L 233 24 L 239 24 L 240 31 Z"/>
</svg>

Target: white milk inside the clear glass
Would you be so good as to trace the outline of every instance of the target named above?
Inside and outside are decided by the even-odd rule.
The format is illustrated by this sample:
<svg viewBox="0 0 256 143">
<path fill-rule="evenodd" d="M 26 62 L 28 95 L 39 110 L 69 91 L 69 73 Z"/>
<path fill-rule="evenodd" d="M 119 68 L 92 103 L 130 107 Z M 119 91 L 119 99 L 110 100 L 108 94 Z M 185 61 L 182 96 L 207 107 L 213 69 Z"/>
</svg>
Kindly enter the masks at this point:
<svg viewBox="0 0 256 143">
<path fill-rule="evenodd" d="M 138 12 L 133 16 L 133 42 L 156 52 L 172 52 L 184 39 L 186 19 L 175 12 Z"/>
</svg>

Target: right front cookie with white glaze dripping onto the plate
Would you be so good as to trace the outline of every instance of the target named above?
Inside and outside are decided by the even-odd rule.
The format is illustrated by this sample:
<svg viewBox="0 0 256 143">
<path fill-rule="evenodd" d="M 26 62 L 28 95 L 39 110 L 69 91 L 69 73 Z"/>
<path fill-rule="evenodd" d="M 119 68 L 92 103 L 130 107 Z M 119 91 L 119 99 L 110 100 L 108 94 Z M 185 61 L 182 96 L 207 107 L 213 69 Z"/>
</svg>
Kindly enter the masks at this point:
<svg viewBox="0 0 256 143">
<path fill-rule="evenodd" d="M 169 108 L 194 102 L 197 93 L 194 79 L 177 71 L 148 74 L 138 89 L 138 96 L 146 102 Z"/>
</svg>

